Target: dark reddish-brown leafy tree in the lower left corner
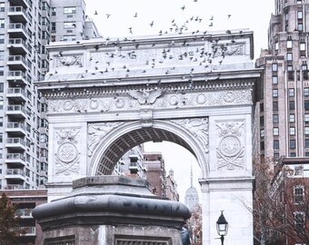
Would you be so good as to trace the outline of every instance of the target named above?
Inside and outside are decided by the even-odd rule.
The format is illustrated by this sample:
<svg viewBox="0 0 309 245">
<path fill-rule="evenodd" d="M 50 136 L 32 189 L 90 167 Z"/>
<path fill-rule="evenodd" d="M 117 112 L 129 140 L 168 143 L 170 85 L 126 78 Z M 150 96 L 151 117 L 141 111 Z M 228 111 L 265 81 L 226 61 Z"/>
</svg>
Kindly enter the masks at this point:
<svg viewBox="0 0 309 245">
<path fill-rule="evenodd" d="M 25 233 L 20 229 L 20 217 L 15 216 L 16 206 L 5 195 L 2 194 L 0 199 L 0 244 L 1 245 L 17 245 L 18 237 Z"/>
</svg>

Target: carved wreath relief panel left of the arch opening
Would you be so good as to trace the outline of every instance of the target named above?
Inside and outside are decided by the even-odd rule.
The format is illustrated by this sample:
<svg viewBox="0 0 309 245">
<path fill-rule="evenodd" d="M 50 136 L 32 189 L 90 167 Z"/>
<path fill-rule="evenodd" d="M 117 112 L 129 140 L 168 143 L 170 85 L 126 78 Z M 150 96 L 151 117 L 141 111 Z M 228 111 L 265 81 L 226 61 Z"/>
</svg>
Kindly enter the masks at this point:
<svg viewBox="0 0 309 245">
<path fill-rule="evenodd" d="M 56 131 L 58 149 L 55 152 L 55 175 L 78 175 L 80 171 L 80 152 L 76 147 L 78 130 Z"/>
</svg>

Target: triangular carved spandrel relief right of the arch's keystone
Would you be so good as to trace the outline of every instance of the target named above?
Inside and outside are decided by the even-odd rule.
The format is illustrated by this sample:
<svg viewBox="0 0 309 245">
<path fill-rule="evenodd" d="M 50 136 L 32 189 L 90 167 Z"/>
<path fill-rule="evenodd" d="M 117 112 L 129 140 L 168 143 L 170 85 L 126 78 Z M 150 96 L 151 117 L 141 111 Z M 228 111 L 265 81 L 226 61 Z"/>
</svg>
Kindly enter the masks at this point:
<svg viewBox="0 0 309 245">
<path fill-rule="evenodd" d="M 204 152 L 209 152 L 208 118 L 172 120 L 172 122 L 181 125 L 184 127 L 184 129 L 191 132 L 194 137 L 201 143 Z"/>
</svg>

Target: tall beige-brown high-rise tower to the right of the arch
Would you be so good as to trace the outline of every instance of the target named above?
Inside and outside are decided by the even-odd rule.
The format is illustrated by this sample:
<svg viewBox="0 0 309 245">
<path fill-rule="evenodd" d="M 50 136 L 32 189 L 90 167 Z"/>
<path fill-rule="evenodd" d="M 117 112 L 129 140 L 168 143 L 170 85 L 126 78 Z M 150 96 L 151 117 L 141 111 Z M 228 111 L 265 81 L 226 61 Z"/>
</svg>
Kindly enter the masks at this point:
<svg viewBox="0 0 309 245">
<path fill-rule="evenodd" d="M 268 50 L 256 60 L 264 69 L 254 145 L 256 156 L 309 156 L 309 0 L 275 0 Z"/>
</svg>

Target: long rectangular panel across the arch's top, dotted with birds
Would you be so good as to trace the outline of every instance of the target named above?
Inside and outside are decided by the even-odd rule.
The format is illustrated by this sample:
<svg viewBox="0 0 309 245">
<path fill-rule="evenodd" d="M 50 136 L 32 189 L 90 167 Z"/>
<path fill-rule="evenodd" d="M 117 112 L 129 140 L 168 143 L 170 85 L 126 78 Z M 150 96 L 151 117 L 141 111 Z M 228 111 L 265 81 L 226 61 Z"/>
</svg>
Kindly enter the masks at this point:
<svg viewBox="0 0 309 245">
<path fill-rule="evenodd" d="M 97 64 L 108 64 L 112 67 L 123 67 L 129 65 L 130 67 L 141 65 L 155 65 L 160 64 L 187 64 L 192 61 L 203 61 L 206 56 L 211 55 L 212 58 L 219 56 L 236 56 L 244 55 L 245 42 L 237 43 L 200 43 L 182 46 L 171 45 L 169 48 L 153 46 L 151 49 L 135 49 L 125 50 L 117 49 L 109 52 L 96 51 L 91 53 L 89 60 L 90 66 Z"/>
</svg>

